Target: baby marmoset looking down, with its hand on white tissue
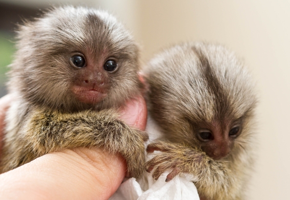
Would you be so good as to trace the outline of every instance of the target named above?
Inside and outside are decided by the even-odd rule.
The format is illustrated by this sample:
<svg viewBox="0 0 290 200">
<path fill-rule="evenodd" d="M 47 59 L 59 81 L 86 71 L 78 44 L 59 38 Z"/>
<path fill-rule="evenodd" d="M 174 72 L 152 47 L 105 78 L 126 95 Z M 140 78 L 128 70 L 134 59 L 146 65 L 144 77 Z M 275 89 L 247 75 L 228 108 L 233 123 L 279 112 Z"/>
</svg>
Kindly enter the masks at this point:
<svg viewBox="0 0 290 200">
<path fill-rule="evenodd" d="M 198 177 L 201 199 L 244 199 L 254 161 L 254 84 L 236 56 L 219 45 L 182 43 L 152 59 L 144 70 L 149 111 L 163 139 L 147 151 L 163 151 L 146 168 L 170 181 Z"/>
</svg>

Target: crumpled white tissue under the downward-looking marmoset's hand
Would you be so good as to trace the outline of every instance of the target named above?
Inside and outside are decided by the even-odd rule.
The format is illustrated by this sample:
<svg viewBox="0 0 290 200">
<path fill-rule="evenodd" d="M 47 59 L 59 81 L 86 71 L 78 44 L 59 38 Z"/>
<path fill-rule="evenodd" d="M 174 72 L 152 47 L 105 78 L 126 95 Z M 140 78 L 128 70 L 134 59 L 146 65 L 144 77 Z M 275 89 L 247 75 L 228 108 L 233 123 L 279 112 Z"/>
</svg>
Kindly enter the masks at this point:
<svg viewBox="0 0 290 200">
<path fill-rule="evenodd" d="M 146 131 L 149 134 L 147 144 L 162 137 L 160 127 L 150 115 L 148 115 Z M 158 151 L 149 153 L 147 160 L 152 159 L 157 153 Z M 175 176 L 173 180 L 165 182 L 166 176 L 172 171 L 171 169 L 165 171 L 156 181 L 152 177 L 153 171 L 151 173 L 145 172 L 145 177 L 138 182 L 135 178 L 124 181 L 109 200 L 199 200 L 193 183 L 197 181 L 197 177 L 191 174 L 180 174 Z"/>
</svg>

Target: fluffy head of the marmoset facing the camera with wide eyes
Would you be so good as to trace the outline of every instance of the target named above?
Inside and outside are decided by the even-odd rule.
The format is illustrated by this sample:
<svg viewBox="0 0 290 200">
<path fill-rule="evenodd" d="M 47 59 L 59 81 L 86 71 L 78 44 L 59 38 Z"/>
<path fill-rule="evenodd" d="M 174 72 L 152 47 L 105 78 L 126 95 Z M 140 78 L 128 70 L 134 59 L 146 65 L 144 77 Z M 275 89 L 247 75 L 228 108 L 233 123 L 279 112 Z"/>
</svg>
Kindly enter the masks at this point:
<svg viewBox="0 0 290 200">
<path fill-rule="evenodd" d="M 139 91 L 138 47 L 106 12 L 54 8 L 20 26 L 18 39 L 9 85 L 29 102 L 69 112 L 102 109 Z"/>
</svg>

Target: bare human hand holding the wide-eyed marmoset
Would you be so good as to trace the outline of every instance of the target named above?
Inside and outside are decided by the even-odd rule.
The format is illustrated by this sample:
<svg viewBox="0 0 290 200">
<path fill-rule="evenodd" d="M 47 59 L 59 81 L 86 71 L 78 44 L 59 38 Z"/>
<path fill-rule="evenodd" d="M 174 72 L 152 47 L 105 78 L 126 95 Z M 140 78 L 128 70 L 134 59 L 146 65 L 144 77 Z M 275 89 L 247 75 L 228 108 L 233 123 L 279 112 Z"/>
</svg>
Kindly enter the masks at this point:
<svg viewBox="0 0 290 200">
<path fill-rule="evenodd" d="M 0 99 L 0 141 L 4 118 L 13 97 Z M 128 101 L 121 119 L 144 130 L 143 98 Z M 1 155 L 0 144 L 0 155 Z M 108 199 L 126 176 L 126 162 L 101 148 L 77 147 L 49 153 L 0 175 L 0 199 Z"/>
</svg>

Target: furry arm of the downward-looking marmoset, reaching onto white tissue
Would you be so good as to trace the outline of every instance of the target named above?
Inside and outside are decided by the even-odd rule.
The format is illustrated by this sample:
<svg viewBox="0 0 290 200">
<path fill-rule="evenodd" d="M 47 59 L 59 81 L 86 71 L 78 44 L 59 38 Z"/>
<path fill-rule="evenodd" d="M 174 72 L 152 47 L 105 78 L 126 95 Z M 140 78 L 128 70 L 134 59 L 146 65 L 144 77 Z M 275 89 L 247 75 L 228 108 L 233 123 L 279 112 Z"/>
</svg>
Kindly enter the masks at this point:
<svg viewBox="0 0 290 200">
<path fill-rule="evenodd" d="M 229 186 L 233 185 L 235 179 L 227 162 L 215 161 L 197 148 L 169 142 L 148 145 L 148 152 L 154 150 L 162 151 L 146 163 L 147 171 L 156 167 L 153 172 L 154 179 L 158 179 L 164 171 L 173 168 L 166 181 L 172 180 L 180 173 L 194 174 L 198 177 L 195 184 L 200 196 L 205 196 L 206 199 L 236 199 L 227 196 L 227 192 L 230 194 L 232 190 Z"/>
</svg>

